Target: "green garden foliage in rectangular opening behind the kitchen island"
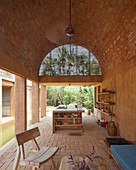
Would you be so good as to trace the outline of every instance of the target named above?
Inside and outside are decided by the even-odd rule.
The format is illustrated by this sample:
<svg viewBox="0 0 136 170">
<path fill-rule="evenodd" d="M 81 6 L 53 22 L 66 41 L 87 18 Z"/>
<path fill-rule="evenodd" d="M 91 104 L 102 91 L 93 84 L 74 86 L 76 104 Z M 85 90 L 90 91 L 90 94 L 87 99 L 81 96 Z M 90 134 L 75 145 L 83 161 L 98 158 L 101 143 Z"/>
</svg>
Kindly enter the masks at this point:
<svg viewBox="0 0 136 170">
<path fill-rule="evenodd" d="M 68 105 L 75 102 L 93 112 L 93 90 L 91 86 L 47 86 L 47 105 Z"/>
</svg>

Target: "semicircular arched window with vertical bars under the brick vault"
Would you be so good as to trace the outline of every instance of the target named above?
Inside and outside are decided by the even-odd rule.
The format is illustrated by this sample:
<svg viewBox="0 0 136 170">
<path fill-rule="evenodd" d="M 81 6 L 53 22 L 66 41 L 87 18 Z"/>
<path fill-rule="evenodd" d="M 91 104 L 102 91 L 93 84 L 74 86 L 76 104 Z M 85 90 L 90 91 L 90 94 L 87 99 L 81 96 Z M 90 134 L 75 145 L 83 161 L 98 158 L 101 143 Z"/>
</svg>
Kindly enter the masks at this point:
<svg viewBox="0 0 136 170">
<path fill-rule="evenodd" d="M 74 44 L 54 48 L 45 56 L 39 69 L 39 76 L 101 74 L 97 58 L 86 48 Z"/>
</svg>

